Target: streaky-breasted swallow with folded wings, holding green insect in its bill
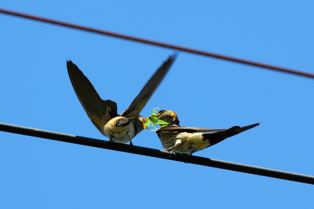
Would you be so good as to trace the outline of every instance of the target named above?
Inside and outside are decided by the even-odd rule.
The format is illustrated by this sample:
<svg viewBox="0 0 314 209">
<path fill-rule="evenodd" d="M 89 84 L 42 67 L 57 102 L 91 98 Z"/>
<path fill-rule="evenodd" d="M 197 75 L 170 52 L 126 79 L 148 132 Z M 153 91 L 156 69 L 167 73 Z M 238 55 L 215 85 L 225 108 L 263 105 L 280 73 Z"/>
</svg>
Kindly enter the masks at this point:
<svg viewBox="0 0 314 209">
<path fill-rule="evenodd" d="M 192 154 L 213 146 L 228 137 L 258 126 L 259 123 L 250 126 L 233 126 L 229 129 L 205 129 L 194 127 L 180 127 L 176 113 L 171 110 L 160 110 L 158 119 L 169 123 L 156 131 L 162 146 L 166 151 L 182 154 Z M 214 132 L 215 131 L 215 132 Z M 213 133 L 204 133 L 213 132 Z"/>
</svg>

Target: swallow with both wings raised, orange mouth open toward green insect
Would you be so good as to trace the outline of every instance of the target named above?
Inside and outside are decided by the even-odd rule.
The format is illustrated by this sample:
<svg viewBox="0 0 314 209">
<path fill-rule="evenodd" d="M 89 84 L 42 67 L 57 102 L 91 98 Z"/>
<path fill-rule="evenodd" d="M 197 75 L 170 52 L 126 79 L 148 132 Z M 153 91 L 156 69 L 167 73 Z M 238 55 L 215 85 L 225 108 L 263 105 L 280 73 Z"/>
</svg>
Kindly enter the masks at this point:
<svg viewBox="0 0 314 209">
<path fill-rule="evenodd" d="M 168 57 L 167 61 L 154 73 L 131 105 L 121 115 L 117 114 L 116 102 L 101 99 L 88 78 L 73 62 L 68 61 L 67 67 L 74 91 L 96 128 L 111 142 L 127 143 L 130 141 L 132 145 L 131 139 L 147 128 L 144 124 L 146 119 L 139 113 L 165 77 L 175 59 L 176 54 Z M 116 82 L 119 85 L 124 81 L 118 80 Z"/>
</svg>

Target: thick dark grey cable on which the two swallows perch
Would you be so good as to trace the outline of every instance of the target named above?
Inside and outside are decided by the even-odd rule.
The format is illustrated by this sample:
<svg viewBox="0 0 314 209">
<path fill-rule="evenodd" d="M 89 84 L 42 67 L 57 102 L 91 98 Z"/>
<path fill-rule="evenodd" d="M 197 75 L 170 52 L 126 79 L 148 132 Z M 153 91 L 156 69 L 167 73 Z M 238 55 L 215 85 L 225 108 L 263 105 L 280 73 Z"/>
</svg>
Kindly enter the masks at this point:
<svg viewBox="0 0 314 209">
<path fill-rule="evenodd" d="M 306 184 L 314 184 L 314 176 L 296 174 L 296 173 L 291 173 L 291 172 L 286 172 L 286 171 L 262 168 L 262 167 L 245 165 L 245 164 L 240 164 L 240 163 L 232 163 L 232 162 L 223 161 L 223 160 L 203 158 L 203 157 L 198 157 L 198 156 L 193 156 L 193 155 L 191 156 L 191 155 L 180 154 L 180 153 L 173 153 L 171 157 L 169 158 L 170 156 L 169 152 L 164 151 L 164 150 L 109 142 L 109 141 L 104 141 L 104 140 L 99 140 L 99 139 L 88 138 L 88 137 L 80 137 L 80 136 L 58 133 L 58 132 L 53 132 L 53 131 L 28 128 L 24 126 L 15 126 L 15 125 L 6 124 L 6 123 L 0 123 L 0 131 L 22 134 L 22 135 L 31 136 L 31 137 L 40 137 L 40 138 L 51 139 L 51 140 L 56 140 L 56 141 L 61 141 L 61 142 L 68 142 L 68 143 L 73 143 L 73 144 L 80 144 L 80 145 L 85 145 L 85 146 L 90 146 L 90 147 L 110 149 L 110 150 L 115 150 L 115 151 L 120 151 L 120 152 L 125 152 L 125 153 L 133 153 L 133 154 L 145 155 L 145 156 L 150 156 L 150 157 L 155 157 L 155 158 L 174 160 L 174 161 L 179 161 L 179 162 L 184 162 L 184 163 L 192 163 L 192 164 L 203 165 L 203 166 L 208 166 L 208 167 L 233 170 L 233 171 L 238 171 L 238 172 L 243 172 L 243 173 L 248 173 L 248 174 L 268 176 L 268 177 L 277 178 L 277 179 L 297 181 L 297 182 L 306 183 Z"/>
</svg>

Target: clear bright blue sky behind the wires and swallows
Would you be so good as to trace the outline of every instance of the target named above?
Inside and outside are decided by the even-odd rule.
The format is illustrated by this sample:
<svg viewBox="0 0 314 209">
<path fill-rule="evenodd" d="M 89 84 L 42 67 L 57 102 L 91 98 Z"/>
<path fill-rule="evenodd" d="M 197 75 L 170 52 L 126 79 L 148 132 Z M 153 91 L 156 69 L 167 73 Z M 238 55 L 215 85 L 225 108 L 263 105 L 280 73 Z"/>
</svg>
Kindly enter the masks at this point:
<svg viewBox="0 0 314 209">
<path fill-rule="evenodd" d="M 312 1 L 7 1 L 1 8 L 312 72 Z M 173 51 L 0 14 L 0 122 L 108 140 L 72 60 L 122 112 Z M 119 85 L 117 85 L 119 83 Z M 314 80 L 180 53 L 151 107 L 182 126 L 261 125 L 195 155 L 314 175 Z M 123 92 L 123 94 L 122 94 Z M 157 103 L 158 100 L 158 104 Z M 162 149 L 142 131 L 134 145 Z M 3 208 L 311 208 L 313 185 L 0 132 Z"/>
</svg>

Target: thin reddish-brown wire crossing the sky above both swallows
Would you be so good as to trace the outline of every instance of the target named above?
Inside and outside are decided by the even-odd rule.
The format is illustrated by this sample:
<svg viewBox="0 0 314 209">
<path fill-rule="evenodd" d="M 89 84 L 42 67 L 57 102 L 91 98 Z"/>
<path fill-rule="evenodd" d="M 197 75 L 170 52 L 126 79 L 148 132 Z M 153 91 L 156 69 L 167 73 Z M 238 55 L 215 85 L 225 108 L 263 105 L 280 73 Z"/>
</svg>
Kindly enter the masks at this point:
<svg viewBox="0 0 314 209">
<path fill-rule="evenodd" d="M 86 26 L 82 26 L 82 25 L 78 25 L 78 24 L 66 23 L 66 22 L 58 21 L 58 20 L 54 20 L 54 19 L 37 17 L 34 15 L 26 14 L 26 13 L 19 13 L 19 12 L 14 12 L 14 11 L 1 9 L 1 8 L 0 8 L 0 13 L 14 15 L 14 16 L 18 16 L 18 17 L 27 18 L 27 19 L 38 20 L 38 21 L 51 23 L 51 24 L 62 25 L 62 26 L 80 29 L 80 30 L 85 30 L 85 31 L 93 32 L 93 33 L 102 34 L 102 35 L 109 35 L 109 36 L 113 36 L 116 38 L 122 38 L 122 39 L 137 41 L 137 42 L 141 42 L 141 43 L 145 43 L 145 44 L 151 44 L 151 45 L 155 45 L 155 46 L 166 47 L 166 48 L 175 49 L 175 50 L 179 50 L 179 51 L 185 51 L 185 52 L 190 52 L 190 53 L 194 53 L 194 54 L 209 56 L 209 57 L 213 57 L 213 58 L 217 58 L 217 59 L 223 59 L 223 60 L 227 60 L 227 61 L 231 61 L 231 62 L 237 62 L 237 63 L 241 63 L 241 64 L 252 65 L 252 66 L 256 66 L 256 67 L 267 68 L 270 70 L 276 70 L 276 71 L 280 71 L 280 72 L 287 72 L 287 73 L 291 73 L 291 74 L 295 74 L 295 75 L 314 78 L 314 74 L 308 73 L 308 72 L 301 72 L 301 71 L 297 71 L 297 70 L 293 70 L 293 69 L 289 69 L 289 68 L 277 67 L 277 66 L 273 66 L 273 65 L 259 63 L 259 62 L 244 60 L 244 59 L 240 59 L 240 58 L 236 58 L 236 57 L 220 55 L 220 54 L 216 54 L 216 53 L 212 53 L 212 52 L 208 52 L 208 51 L 202 51 L 202 50 L 192 49 L 192 48 L 188 48 L 188 47 L 184 47 L 184 46 L 177 46 L 177 45 L 173 45 L 173 44 L 163 43 L 160 41 L 148 40 L 148 39 L 143 39 L 143 38 L 130 36 L 130 35 L 123 35 L 123 34 L 111 32 L 111 31 L 107 31 L 107 30 L 94 29 L 91 27 L 86 27 Z"/>
</svg>

